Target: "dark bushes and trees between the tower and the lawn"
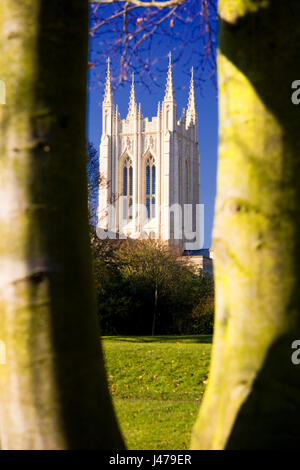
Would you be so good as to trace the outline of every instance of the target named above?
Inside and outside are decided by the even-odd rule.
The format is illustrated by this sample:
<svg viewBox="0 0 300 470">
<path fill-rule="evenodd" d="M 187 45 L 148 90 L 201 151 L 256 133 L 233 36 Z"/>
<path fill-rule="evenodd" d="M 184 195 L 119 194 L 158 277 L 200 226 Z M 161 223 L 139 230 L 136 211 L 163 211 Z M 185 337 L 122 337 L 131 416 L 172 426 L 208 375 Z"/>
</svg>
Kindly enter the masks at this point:
<svg viewBox="0 0 300 470">
<path fill-rule="evenodd" d="M 104 335 L 211 334 L 213 279 L 156 240 L 99 240 L 91 233 Z"/>
</svg>

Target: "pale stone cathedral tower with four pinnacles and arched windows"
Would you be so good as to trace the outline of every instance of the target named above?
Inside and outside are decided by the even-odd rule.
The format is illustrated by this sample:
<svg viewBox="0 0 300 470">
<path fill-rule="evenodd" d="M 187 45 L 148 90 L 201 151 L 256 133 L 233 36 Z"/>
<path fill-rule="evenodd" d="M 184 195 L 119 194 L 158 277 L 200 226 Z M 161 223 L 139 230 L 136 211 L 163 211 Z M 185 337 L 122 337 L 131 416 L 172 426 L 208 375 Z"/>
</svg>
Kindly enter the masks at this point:
<svg viewBox="0 0 300 470">
<path fill-rule="evenodd" d="M 137 106 L 134 75 L 126 119 L 114 106 L 108 60 L 102 104 L 99 229 L 110 236 L 153 237 L 185 248 L 196 228 L 200 204 L 200 154 L 193 69 L 187 111 L 177 119 L 172 62 L 157 115 L 144 118 Z"/>
</svg>

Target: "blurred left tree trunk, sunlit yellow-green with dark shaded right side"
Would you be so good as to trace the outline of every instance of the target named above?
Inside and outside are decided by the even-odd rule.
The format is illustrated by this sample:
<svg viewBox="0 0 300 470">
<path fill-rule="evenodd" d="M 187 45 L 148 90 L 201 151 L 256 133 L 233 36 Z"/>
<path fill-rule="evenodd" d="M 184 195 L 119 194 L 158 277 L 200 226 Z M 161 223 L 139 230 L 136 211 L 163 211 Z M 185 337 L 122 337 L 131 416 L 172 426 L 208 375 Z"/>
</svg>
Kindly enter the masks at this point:
<svg viewBox="0 0 300 470">
<path fill-rule="evenodd" d="M 3 449 L 122 448 L 88 242 L 88 2 L 0 4 Z"/>
</svg>

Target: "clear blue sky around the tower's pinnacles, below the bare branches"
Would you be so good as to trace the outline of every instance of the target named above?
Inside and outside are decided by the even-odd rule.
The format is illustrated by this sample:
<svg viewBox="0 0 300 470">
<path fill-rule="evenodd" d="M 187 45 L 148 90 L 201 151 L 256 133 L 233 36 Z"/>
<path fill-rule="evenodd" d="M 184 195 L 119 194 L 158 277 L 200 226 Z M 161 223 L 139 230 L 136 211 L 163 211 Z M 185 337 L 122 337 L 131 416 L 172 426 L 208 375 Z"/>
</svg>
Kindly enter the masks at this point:
<svg viewBox="0 0 300 470">
<path fill-rule="evenodd" d="M 179 31 L 180 32 L 180 31 Z M 111 36 L 111 41 L 114 38 Z M 90 60 L 99 45 L 99 37 L 90 40 Z M 216 45 L 215 45 L 216 46 Z M 173 81 L 177 101 L 178 117 L 181 116 L 182 108 L 187 107 L 190 68 L 195 67 L 195 91 L 196 105 L 198 111 L 198 140 L 200 149 L 200 179 L 201 179 L 201 203 L 204 204 L 205 217 L 205 242 L 204 246 L 211 246 L 211 235 L 214 216 L 214 202 L 216 194 L 216 171 L 217 171 L 217 145 L 218 145 L 218 103 L 216 86 L 211 79 L 203 80 L 204 72 L 201 74 L 199 67 L 199 50 L 188 49 L 186 45 L 188 60 L 185 54 L 176 58 L 173 65 Z M 201 47 L 201 44 L 199 44 Z M 157 103 L 162 101 L 165 93 L 165 84 L 168 68 L 168 52 L 170 47 L 170 36 L 159 41 L 158 62 L 153 69 L 152 77 L 148 79 L 145 86 L 144 79 L 141 80 L 139 68 L 133 59 L 132 68 L 135 70 L 136 99 L 142 104 L 144 117 L 152 117 L 157 113 Z M 147 52 L 147 51 L 146 51 Z M 143 56 L 145 48 L 140 51 Z M 121 54 L 121 49 L 120 49 Z M 89 71 L 88 109 L 87 109 L 87 139 L 99 150 L 102 132 L 101 103 L 104 93 L 104 79 L 106 73 L 105 60 L 97 62 L 96 66 Z M 176 60 L 177 59 L 177 60 Z M 111 57 L 112 75 L 117 77 L 120 71 L 120 55 L 114 53 Z M 130 67 L 129 67 L 130 70 Z M 206 71 L 207 74 L 207 71 Z M 155 80 L 155 82 L 154 82 Z M 130 93 L 130 82 L 123 82 L 115 86 L 114 103 L 118 104 L 121 118 L 125 118 L 128 110 Z"/>
</svg>

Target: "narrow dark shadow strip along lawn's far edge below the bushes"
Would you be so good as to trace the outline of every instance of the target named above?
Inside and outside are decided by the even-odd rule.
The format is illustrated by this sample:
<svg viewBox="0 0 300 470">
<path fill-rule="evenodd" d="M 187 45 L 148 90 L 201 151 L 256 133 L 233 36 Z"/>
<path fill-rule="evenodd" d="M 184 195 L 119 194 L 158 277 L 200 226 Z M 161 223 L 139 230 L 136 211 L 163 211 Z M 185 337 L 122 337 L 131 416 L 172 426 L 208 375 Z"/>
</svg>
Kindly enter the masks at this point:
<svg viewBox="0 0 300 470">
<path fill-rule="evenodd" d="M 102 336 L 105 341 L 128 343 L 202 343 L 211 344 L 212 335 L 187 335 L 187 336 Z"/>
</svg>

